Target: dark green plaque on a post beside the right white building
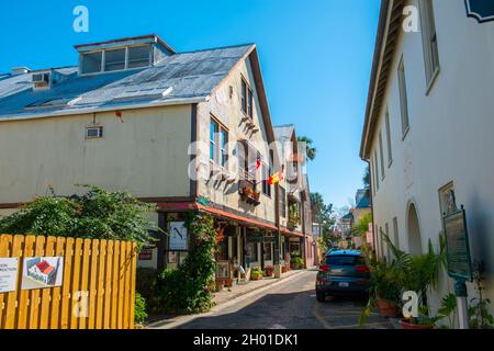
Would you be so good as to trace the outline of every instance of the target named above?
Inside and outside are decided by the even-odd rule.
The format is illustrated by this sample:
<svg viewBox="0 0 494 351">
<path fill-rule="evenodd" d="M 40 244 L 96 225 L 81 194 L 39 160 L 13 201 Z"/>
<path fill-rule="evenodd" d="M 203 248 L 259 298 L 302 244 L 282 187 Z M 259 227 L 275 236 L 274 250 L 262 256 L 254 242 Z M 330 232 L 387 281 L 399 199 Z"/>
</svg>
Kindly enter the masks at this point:
<svg viewBox="0 0 494 351">
<path fill-rule="evenodd" d="M 448 274 L 451 278 L 471 281 L 472 263 L 464 210 L 444 216 Z"/>
</svg>

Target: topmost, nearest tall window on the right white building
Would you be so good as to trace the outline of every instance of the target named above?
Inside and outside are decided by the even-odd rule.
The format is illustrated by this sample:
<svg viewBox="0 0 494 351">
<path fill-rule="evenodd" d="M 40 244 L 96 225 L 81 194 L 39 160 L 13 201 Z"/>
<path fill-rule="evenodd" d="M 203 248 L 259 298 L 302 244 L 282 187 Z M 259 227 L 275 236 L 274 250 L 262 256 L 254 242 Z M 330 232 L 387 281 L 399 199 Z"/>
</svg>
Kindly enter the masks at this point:
<svg viewBox="0 0 494 351">
<path fill-rule="evenodd" d="M 427 89 L 429 89 L 435 76 L 439 71 L 439 52 L 437 48 L 433 0 L 420 0 L 420 26 Z"/>
</svg>

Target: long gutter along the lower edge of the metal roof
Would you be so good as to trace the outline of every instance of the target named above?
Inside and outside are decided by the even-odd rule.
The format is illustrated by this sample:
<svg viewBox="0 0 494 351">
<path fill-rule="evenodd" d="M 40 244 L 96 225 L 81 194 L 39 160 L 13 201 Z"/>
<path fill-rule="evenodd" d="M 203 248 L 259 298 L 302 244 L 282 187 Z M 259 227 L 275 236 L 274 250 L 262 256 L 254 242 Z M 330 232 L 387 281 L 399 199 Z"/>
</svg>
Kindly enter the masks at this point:
<svg viewBox="0 0 494 351">
<path fill-rule="evenodd" d="M 35 120 L 35 118 L 45 118 L 45 117 L 56 117 L 56 116 L 69 116 L 77 114 L 87 114 L 87 113 L 96 113 L 96 112 L 110 112 L 110 111 L 124 111 L 124 110 L 136 110 L 136 109 L 148 109 L 148 107 L 157 107 L 157 106 L 168 106 L 168 105 L 184 105 L 192 103 L 200 103 L 210 100 L 210 95 L 200 97 L 200 98 L 179 98 L 179 99 L 170 99 L 166 101 L 154 101 L 154 102 L 145 102 L 137 104 L 113 104 L 111 106 L 101 107 L 82 107 L 77 110 L 57 110 L 46 113 L 26 113 L 26 114 L 14 114 L 7 117 L 0 117 L 1 122 L 8 121 L 22 121 L 22 120 Z"/>
</svg>

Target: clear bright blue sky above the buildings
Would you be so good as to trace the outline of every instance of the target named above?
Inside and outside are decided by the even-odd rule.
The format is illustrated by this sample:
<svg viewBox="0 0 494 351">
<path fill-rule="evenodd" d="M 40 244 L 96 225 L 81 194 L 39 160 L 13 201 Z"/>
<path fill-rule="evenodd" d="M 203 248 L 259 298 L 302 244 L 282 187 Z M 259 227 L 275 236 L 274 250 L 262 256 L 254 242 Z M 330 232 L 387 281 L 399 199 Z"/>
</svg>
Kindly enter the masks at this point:
<svg viewBox="0 0 494 351">
<path fill-rule="evenodd" d="M 310 3 L 310 5 L 308 5 Z M 89 9 L 89 33 L 72 9 Z M 177 52 L 256 43 L 273 124 L 317 147 L 311 191 L 335 206 L 362 185 L 359 145 L 379 0 L 1 1 L 0 72 L 77 63 L 75 44 L 157 33 Z"/>
</svg>

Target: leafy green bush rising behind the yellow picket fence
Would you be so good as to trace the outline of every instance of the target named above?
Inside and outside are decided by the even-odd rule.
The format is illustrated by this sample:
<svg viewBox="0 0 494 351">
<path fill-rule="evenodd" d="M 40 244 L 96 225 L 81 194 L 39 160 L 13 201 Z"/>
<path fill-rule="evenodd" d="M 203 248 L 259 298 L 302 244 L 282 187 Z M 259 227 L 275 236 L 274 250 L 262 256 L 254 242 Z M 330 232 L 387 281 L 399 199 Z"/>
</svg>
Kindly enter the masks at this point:
<svg viewBox="0 0 494 351">
<path fill-rule="evenodd" d="M 83 185 L 83 195 L 40 196 L 20 211 L 0 218 L 0 231 L 75 238 L 97 238 L 148 244 L 148 230 L 155 225 L 147 218 L 154 211 L 126 192 L 108 192 Z"/>
</svg>

